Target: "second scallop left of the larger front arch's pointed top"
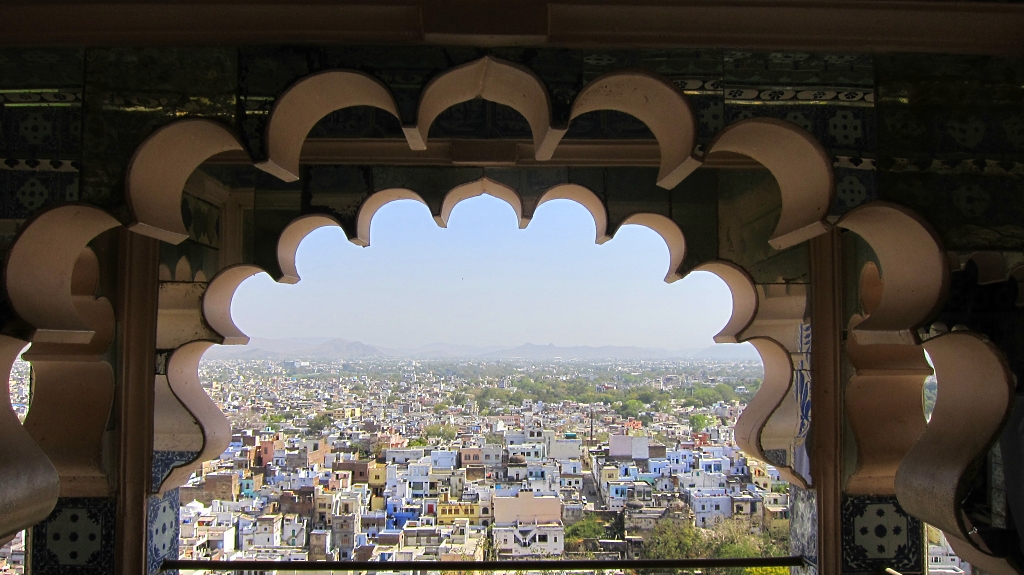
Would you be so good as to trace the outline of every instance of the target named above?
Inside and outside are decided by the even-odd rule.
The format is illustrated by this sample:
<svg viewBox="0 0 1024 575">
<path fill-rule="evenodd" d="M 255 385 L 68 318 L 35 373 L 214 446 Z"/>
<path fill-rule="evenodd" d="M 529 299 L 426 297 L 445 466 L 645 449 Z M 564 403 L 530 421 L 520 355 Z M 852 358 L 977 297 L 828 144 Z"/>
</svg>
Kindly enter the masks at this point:
<svg viewBox="0 0 1024 575">
<path fill-rule="evenodd" d="M 187 119 L 159 128 L 135 149 L 125 176 L 128 229 L 168 244 L 188 237 L 181 221 L 181 191 L 188 176 L 209 158 L 242 150 L 234 133 L 210 120 Z"/>
</svg>

